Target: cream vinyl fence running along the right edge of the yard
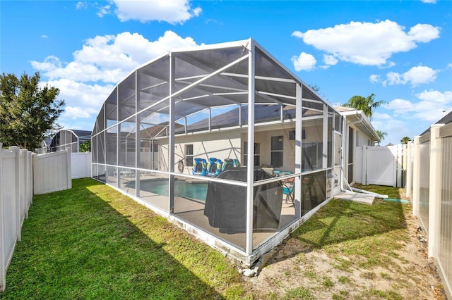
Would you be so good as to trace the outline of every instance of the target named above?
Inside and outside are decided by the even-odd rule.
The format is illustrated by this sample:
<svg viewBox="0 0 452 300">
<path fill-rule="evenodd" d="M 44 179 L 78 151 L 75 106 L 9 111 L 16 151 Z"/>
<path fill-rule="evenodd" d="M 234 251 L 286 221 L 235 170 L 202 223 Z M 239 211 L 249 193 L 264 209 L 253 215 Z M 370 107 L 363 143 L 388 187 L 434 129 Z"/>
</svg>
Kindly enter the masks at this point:
<svg viewBox="0 0 452 300">
<path fill-rule="evenodd" d="M 452 299 L 452 123 L 436 124 L 408 144 L 406 192 L 428 236 L 444 289 Z"/>
</svg>

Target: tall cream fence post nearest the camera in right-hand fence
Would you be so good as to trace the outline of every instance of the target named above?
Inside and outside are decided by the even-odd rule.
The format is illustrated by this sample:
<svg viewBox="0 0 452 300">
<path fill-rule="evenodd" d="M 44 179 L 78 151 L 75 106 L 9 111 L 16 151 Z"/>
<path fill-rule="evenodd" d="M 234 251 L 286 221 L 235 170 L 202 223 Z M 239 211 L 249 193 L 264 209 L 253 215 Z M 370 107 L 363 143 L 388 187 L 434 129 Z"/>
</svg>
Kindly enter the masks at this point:
<svg viewBox="0 0 452 300">
<path fill-rule="evenodd" d="M 429 257 L 438 258 L 439 221 L 441 220 L 441 138 L 439 128 L 430 127 L 430 182 L 429 182 Z"/>
</svg>

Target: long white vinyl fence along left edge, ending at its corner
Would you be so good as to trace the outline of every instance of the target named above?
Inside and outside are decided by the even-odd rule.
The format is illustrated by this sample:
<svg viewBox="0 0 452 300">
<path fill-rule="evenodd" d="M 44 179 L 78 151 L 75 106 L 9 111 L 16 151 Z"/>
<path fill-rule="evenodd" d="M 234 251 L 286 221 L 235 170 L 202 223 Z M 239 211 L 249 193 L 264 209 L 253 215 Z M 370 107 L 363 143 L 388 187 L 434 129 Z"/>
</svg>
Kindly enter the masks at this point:
<svg viewBox="0 0 452 300">
<path fill-rule="evenodd" d="M 34 194 L 70 189 L 71 154 L 32 154 L 0 143 L 0 292 Z"/>
</svg>

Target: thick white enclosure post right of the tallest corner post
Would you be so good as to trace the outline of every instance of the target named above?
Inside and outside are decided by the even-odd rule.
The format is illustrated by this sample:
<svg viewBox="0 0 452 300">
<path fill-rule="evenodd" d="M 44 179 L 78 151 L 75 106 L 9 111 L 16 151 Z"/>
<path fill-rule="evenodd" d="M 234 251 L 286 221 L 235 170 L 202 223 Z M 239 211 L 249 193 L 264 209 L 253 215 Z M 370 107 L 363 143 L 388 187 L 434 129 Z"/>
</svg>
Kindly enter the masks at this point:
<svg viewBox="0 0 452 300">
<path fill-rule="evenodd" d="M 302 115 L 303 115 L 303 84 L 297 82 L 295 87 L 295 173 L 302 173 Z M 295 218 L 302 217 L 302 179 L 295 177 Z"/>
</svg>

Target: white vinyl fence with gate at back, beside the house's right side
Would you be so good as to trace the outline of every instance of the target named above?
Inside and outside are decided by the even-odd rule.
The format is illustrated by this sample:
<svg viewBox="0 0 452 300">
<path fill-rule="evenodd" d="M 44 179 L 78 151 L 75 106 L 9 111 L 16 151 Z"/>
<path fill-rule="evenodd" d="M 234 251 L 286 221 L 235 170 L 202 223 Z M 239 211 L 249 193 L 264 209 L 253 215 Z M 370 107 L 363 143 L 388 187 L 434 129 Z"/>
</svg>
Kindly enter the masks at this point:
<svg viewBox="0 0 452 300">
<path fill-rule="evenodd" d="M 355 182 L 403 187 L 403 146 L 360 146 L 355 149 Z"/>
</svg>

